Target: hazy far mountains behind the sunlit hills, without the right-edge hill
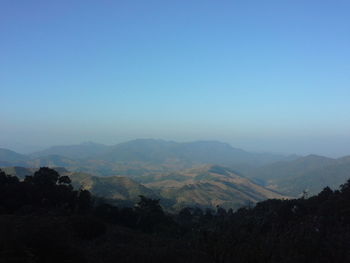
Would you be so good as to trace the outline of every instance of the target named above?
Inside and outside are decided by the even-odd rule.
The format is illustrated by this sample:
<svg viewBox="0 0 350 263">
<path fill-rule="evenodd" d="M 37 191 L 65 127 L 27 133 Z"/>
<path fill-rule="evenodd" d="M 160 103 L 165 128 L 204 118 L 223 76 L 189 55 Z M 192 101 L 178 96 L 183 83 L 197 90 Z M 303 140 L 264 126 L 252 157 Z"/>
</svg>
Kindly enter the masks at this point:
<svg viewBox="0 0 350 263">
<path fill-rule="evenodd" d="M 179 143 L 155 139 L 137 139 L 113 146 L 92 142 L 53 146 L 29 155 L 0 149 L 0 166 L 60 166 L 99 176 L 167 173 L 203 164 L 246 171 L 295 158 L 293 155 L 251 153 L 217 141 Z"/>
</svg>

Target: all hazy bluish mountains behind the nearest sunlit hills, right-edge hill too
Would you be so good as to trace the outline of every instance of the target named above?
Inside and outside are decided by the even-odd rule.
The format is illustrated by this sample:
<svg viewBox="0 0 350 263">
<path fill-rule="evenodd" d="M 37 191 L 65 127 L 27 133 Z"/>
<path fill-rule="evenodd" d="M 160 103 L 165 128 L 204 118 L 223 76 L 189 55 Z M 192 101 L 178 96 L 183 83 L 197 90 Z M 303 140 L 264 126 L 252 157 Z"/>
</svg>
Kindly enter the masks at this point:
<svg viewBox="0 0 350 263">
<path fill-rule="evenodd" d="M 304 190 L 315 194 L 327 185 L 336 188 L 350 177 L 350 157 L 251 153 L 217 141 L 137 139 L 114 146 L 83 143 L 31 155 L 0 149 L 0 166 L 65 167 L 72 172 L 126 176 L 142 182 L 150 176 L 181 175 L 184 170 L 208 164 L 240 171 L 254 183 L 288 196 L 299 196 Z"/>
</svg>

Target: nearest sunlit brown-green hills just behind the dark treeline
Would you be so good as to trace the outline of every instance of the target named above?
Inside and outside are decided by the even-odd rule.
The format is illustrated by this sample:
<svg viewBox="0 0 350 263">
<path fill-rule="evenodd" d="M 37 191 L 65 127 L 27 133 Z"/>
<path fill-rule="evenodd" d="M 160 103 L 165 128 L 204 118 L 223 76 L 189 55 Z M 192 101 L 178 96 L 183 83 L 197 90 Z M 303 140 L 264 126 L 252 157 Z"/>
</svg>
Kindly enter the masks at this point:
<svg viewBox="0 0 350 263">
<path fill-rule="evenodd" d="M 24 178 L 32 175 L 35 168 L 5 167 L 7 174 Z M 164 175 L 149 175 L 131 179 L 125 176 L 93 176 L 54 168 L 67 175 L 72 185 L 83 187 L 97 197 L 121 206 L 132 206 L 140 195 L 161 199 L 167 210 L 176 211 L 186 206 L 201 208 L 237 209 L 265 199 L 283 199 L 282 195 L 260 186 L 231 169 L 217 165 L 203 165 Z"/>
</svg>

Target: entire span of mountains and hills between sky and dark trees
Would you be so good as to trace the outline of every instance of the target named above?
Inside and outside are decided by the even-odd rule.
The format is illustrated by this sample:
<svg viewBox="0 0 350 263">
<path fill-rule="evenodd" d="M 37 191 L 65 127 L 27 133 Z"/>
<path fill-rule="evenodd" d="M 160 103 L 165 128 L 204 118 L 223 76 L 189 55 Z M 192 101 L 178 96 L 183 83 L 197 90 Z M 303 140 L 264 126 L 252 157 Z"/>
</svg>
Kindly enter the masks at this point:
<svg viewBox="0 0 350 263">
<path fill-rule="evenodd" d="M 326 186 L 336 189 L 350 178 L 349 156 L 250 153 L 216 141 L 88 142 L 29 155 L 0 149 L 0 166 L 17 166 L 19 174 L 26 168 L 63 167 L 61 172 L 75 185 L 99 196 L 128 202 L 147 194 L 172 209 L 193 204 L 237 207 L 266 198 L 312 195 Z"/>
</svg>

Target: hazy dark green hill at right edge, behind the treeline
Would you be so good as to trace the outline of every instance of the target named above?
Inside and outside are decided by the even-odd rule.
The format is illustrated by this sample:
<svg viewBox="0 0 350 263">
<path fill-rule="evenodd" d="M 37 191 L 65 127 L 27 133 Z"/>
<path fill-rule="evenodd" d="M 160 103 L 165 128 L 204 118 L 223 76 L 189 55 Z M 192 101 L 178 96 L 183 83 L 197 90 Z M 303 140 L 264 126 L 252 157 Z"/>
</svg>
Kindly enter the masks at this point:
<svg viewBox="0 0 350 263">
<path fill-rule="evenodd" d="M 303 191 L 312 195 L 326 186 L 336 189 L 350 178 L 350 156 L 332 159 L 308 155 L 258 167 L 248 172 L 247 176 L 287 195 L 300 196 Z"/>
</svg>

